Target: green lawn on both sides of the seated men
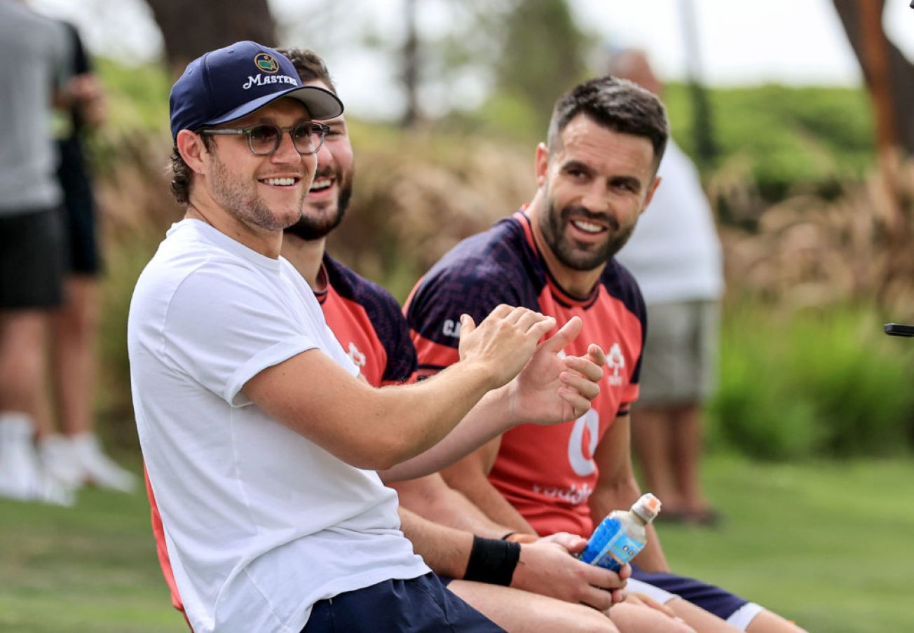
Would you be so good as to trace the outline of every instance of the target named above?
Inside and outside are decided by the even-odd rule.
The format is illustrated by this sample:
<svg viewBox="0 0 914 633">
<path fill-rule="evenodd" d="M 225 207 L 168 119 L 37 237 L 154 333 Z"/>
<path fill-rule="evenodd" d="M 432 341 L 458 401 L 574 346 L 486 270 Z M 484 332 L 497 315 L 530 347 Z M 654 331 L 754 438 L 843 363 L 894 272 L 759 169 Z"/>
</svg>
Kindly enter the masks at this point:
<svg viewBox="0 0 914 633">
<path fill-rule="evenodd" d="M 715 531 L 661 526 L 674 569 L 810 631 L 914 627 L 914 464 L 707 461 Z M 142 491 L 85 490 L 74 509 L 0 500 L 0 630 L 186 631 L 155 560 Z"/>
</svg>

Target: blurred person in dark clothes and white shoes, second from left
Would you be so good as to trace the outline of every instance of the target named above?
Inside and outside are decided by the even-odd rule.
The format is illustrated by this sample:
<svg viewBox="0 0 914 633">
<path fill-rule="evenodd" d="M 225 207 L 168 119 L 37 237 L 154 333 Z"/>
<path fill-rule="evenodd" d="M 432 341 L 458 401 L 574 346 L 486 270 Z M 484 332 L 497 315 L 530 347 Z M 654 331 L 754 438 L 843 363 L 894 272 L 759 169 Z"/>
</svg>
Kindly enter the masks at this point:
<svg viewBox="0 0 914 633">
<path fill-rule="evenodd" d="M 55 117 L 60 160 L 57 176 L 63 190 L 68 265 L 63 305 L 51 321 L 50 370 L 62 433 L 54 433 L 52 427 L 39 429 L 38 455 L 45 471 L 69 486 L 91 483 L 129 492 L 133 489 L 133 475 L 102 452 L 93 433 L 101 256 L 90 166 L 82 137 L 103 123 L 105 95 L 76 28 L 61 24 L 69 38 L 74 74 L 68 83 L 69 102 L 58 108 Z"/>
</svg>

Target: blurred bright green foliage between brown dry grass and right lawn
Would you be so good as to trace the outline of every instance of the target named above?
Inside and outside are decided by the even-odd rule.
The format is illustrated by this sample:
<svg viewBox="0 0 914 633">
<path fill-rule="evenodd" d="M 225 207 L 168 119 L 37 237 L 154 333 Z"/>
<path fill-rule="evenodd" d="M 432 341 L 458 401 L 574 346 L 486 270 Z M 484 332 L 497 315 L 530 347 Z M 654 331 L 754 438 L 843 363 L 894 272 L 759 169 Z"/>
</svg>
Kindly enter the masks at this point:
<svg viewBox="0 0 914 633">
<path fill-rule="evenodd" d="M 789 319 L 760 305 L 724 319 L 710 443 L 766 459 L 885 456 L 914 439 L 914 346 L 877 310 L 837 306 Z"/>
</svg>

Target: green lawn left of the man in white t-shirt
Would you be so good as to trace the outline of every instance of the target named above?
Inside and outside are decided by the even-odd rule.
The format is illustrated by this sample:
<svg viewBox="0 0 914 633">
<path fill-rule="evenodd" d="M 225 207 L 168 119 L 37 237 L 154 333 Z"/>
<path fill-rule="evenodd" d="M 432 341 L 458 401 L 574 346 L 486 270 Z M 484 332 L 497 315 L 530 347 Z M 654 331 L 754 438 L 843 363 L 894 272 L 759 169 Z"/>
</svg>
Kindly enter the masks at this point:
<svg viewBox="0 0 914 633">
<path fill-rule="evenodd" d="M 86 489 L 75 508 L 0 499 L 0 630 L 186 631 L 144 492 Z"/>
</svg>

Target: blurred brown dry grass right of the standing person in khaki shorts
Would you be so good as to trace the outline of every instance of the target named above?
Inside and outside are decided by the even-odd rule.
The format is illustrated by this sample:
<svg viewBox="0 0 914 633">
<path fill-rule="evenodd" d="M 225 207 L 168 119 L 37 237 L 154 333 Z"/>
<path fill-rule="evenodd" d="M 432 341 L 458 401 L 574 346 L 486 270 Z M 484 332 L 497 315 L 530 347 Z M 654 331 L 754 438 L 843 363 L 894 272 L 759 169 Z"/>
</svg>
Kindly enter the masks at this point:
<svg viewBox="0 0 914 633">
<path fill-rule="evenodd" d="M 737 209 L 720 227 L 730 299 L 787 312 L 865 303 L 914 320 L 914 161 L 899 166 L 893 195 L 872 173 L 768 207 L 740 176 L 725 166 L 708 187 L 717 209 Z"/>
</svg>

